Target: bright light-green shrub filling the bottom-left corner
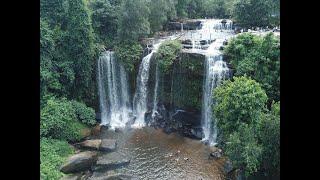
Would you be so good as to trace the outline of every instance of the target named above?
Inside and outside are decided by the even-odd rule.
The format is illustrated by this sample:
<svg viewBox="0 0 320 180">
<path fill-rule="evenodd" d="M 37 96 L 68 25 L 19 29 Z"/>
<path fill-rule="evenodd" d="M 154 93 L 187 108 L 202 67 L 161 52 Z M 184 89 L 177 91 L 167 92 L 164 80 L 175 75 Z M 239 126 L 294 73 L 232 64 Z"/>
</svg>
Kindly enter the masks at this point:
<svg viewBox="0 0 320 180">
<path fill-rule="evenodd" d="M 74 150 L 66 142 L 55 139 L 40 139 L 40 177 L 43 180 L 60 179 L 63 173 L 59 168 L 66 157 Z"/>
</svg>

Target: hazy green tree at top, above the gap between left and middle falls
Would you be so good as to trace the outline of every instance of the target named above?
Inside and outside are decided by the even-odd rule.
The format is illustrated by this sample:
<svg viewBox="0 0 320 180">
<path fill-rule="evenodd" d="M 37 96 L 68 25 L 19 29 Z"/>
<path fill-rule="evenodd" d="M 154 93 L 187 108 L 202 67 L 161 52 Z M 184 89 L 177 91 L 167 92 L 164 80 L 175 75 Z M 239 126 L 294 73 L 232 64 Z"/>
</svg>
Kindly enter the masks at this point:
<svg viewBox="0 0 320 180">
<path fill-rule="evenodd" d="M 150 33 L 150 10 L 145 0 L 126 0 L 121 6 L 118 35 L 120 41 L 137 41 Z"/>
</svg>

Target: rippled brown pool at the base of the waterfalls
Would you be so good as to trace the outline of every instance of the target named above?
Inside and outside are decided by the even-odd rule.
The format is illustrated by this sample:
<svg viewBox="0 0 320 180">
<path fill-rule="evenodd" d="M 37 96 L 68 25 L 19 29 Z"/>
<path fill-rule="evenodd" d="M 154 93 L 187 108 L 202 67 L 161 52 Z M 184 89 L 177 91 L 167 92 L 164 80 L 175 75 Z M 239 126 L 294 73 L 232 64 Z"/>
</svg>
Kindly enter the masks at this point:
<svg viewBox="0 0 320 180">
<path fill-rule="evenodd" d="M 100 136 L 116 139 L 117 152 L 131 159 L 118 172 L 139 179 L 224 179 L 224 160 L 209 159 L 210 148 L 199 140 L 150 127 L 102 130 Z"/>
</svg>

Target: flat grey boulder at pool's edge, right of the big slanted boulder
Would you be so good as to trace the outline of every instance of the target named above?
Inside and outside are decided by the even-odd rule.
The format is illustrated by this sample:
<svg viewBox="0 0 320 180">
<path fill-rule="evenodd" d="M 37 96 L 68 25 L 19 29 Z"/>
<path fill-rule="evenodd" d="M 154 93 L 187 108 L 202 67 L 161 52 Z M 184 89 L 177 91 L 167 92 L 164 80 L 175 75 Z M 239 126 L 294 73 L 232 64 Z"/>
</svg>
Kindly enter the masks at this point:
<svg viewBox="0 0 320 180">
<path fill-rule="evenodd" d="M 111 152 L 100 156 L 94 169 L 96 171 L 116 169 L 121 166 L 128 165 L 129 163 L 129 158 L 126 158 L 118 152 Z"/>
</svg>

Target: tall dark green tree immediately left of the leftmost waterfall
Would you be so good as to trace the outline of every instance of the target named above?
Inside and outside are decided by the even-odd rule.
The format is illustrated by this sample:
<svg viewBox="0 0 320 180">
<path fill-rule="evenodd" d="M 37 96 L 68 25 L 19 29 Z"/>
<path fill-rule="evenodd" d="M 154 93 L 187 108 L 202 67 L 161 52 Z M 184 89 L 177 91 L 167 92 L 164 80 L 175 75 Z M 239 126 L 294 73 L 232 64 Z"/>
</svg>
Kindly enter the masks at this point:
<svg viewBox="0 0 320 180">
<path fill-rule="evenodd" d="M 87 102 L 92 97 L 90 86 L 94 74 L 94 34 L 90 13 L 85 0 L 70 0 L 67 13 L 67 31 L 63 37 L 63 47 L 75 73 L 70 91 L 73 98 Z M 94 90 L 94 89 L 93 89 Z"/>
</svg>

